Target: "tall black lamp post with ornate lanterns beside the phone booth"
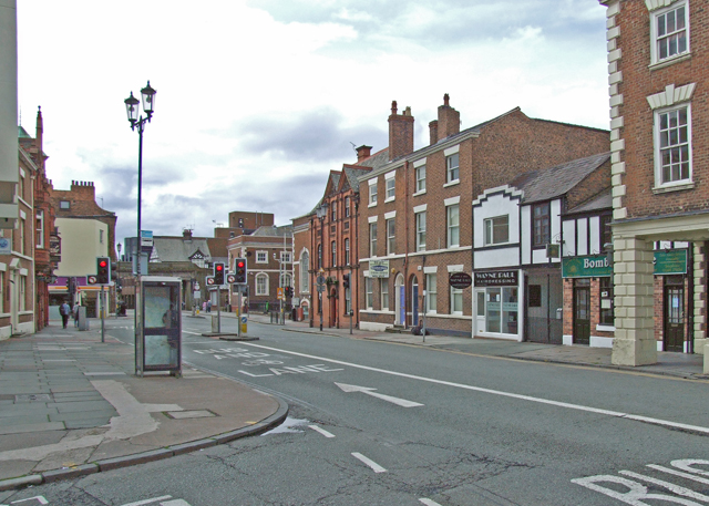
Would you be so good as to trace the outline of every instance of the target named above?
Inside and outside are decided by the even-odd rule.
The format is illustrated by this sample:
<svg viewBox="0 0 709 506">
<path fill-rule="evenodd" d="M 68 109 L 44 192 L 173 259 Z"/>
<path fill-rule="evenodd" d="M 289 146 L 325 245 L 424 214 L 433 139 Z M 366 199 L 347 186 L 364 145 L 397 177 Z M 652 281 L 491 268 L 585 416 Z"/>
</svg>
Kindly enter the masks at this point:
<svg viewBox="0 0 709 506">
<path fill-rule="evenodd" d="M 141 90 L 141 99 L 143 101 L 143 112 L 145 116 L 141 114 L 140 102 L 136 97 L 133 96 L 133 92 L 131 92 L 131 96 L 125 99 L 125 111 L 129 115 L 129 122 L 131 122 L 131 130 L 135 132 L 137 128 L 138 133 L 138 148 L 137 148 L 137 234 L 136 234 L 136 247 L 135 247 L 135 364 L 138 364 L 138 342 L 141 340 L 141 326 L 142 318 L 138 319 L 138 311 L 141 308 L 141 198 L 142 198 L 142 186 L 143 186 L 143 131 L 145 130 L 145 124 L 151 122 L 153 117 L 153 113 L 155 112 L 155 90 L 151 86 L 151 82 L 147 82 L 147 85 Z M 136 371 L 138 372 L 138 371 Z M 142 375 L 142 371 L 138 372 Z"/>
</svg>

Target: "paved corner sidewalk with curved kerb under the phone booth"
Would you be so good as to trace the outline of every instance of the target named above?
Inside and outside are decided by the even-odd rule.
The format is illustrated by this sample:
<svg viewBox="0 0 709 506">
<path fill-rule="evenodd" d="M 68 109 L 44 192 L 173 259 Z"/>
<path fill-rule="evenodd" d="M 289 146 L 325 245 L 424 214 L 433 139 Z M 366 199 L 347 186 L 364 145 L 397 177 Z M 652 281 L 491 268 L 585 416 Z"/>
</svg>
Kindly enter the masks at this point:
<svg viewBox="0 0 709 506">
<path fill-rule="evenodd" d="M 0 341 L 0 490 L 197 451 L 287 415 L 282 401 L 192 368 L 137 378 L 134 348 L 110 329 L 105 341 L 55 322 Z"/>
</svg>

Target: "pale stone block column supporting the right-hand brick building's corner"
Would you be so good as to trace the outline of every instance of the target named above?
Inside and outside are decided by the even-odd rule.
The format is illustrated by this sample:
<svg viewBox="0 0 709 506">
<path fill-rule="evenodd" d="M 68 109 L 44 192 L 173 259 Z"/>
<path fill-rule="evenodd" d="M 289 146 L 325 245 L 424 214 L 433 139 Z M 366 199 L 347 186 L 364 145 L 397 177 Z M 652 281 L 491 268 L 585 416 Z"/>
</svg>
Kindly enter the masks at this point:
<svg viewBox="0 0 709 506">
<path fill-rule="evenodd" d="M 613 246 L 616 332 L 610 360 L 616 365 L 656 363 L 653 242 L 616 236 Z"/>
</svg>

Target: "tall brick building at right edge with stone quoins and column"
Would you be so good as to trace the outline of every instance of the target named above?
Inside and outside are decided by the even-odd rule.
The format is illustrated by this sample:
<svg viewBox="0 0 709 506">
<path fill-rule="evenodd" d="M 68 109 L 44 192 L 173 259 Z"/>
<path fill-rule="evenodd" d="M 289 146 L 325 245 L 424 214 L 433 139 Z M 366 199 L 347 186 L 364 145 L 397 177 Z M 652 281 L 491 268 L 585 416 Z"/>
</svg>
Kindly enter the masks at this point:
<svg viewBox="0 0 709 506">
<path fill-rule="evenodd" d="M 654 321 L 657 241 L 690 242 L 686 280 L 666 277 L 667 290 L 659 291 L 667 303 L 687 304 L 676 308 L 680 321 L 665 324 L 688 329 L 681 337 L 685 351 L 705 353 L 709 55 L 702 50 L 709 14 L 705 2 L 695 0 L 600 3 L 607 7 L 613 153 L 613 362 L 654 363 L 665 349 Z M 677 291 L 684 289 L 688 293 Z"/>
</svg>

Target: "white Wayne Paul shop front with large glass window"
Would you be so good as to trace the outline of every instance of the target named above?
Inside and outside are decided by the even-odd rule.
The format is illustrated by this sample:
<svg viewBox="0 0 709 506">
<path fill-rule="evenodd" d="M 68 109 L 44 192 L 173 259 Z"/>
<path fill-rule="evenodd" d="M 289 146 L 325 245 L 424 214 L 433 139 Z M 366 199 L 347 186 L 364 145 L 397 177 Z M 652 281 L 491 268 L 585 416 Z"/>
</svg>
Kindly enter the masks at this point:
<svg viewBox="0 0 709 506">
<path fill-rule="evenodd" d="M 473 338 L 522 341 L 521 280 L 520 270 L 475 272 Z"/>
</svg>

